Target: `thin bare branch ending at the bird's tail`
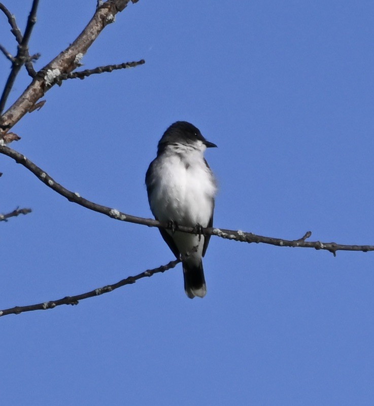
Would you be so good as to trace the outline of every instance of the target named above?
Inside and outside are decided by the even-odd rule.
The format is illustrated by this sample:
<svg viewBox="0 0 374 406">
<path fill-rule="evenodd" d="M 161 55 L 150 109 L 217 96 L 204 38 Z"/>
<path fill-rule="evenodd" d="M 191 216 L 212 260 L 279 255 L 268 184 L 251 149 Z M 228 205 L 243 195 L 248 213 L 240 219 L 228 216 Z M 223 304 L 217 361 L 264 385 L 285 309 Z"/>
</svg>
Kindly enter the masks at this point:
<svg viewBox="0 0 374 406">
<path fill-rule="evenodd" d="M 118 289 L 119 287 L 133 284 L 139 279 L 142 279 L 145 277 L 150 277 L 154 274 L 157 274 L 160 272 L 165 272 L 169 269 L 175 268 L 183 259 L 185 259 L 185 257 L 186 256 L 181 257 L 178 260 L 171 261 L 166 265 L 161 265 L 158 268 L 148 269 L 147 271 L 144 271 L 138 275 L 129 276 L 112 285 L 106 285 L 103 287 L 99 287 L 97 289 L 90 290 L 89 292 L 77 294 L 76 296 L 66 296 L 65 298 L 62 298 L 62 299 L 53 300 L 53 301 L 44 302 L 44 303 L 38 303 L 36 305 L 15 306 L 10 309 L 0 310 L 0 316 L 6 316 L 8 314 L 20 314 L 20 313 L 24 313 L 24 312 L 30 312 L 33 310 L 54 309 L 56 306 L 61 306 L 61 305 L 78 305 L 80 300 L 94 298 L 96 296 L 100 296 L 100 294 L 112 292 L 113 290 Z"/>
</svg>

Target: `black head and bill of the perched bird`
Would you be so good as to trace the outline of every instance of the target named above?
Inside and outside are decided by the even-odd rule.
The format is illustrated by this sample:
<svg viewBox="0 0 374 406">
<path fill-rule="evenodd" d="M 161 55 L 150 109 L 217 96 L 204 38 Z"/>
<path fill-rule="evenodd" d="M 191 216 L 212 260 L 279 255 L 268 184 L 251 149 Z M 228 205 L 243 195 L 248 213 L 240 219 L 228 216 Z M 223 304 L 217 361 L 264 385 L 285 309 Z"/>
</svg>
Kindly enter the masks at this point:
<svg viewBox="0 0 374 406">
<path fill-rule="evenodd" d="M 200 142 L 199 142 L 200 141 Z M 162 152 L 167 145 L 205 145 L 207 148 L 216 147 L 213 142 L 207 141 L 198 128 L 187 121 L 173 123 L 162 135 L 158 142 L 158 152 Z"/>
</svg>

